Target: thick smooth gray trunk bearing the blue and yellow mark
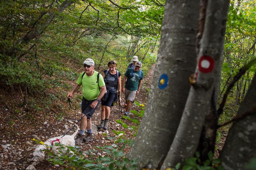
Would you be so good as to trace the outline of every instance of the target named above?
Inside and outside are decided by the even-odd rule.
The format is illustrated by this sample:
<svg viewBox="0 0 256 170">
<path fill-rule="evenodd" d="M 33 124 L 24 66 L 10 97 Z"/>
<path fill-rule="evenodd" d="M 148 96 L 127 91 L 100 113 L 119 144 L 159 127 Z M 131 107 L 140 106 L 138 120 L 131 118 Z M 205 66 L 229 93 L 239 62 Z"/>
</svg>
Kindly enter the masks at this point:
<svg viewBox="0 0 256 170">
<path fill-rule="evenodd" d="M 189 92 L 189 75 L 196 66 L 195 42 L 200 1 L 167 0 L 157 65 L 149 100 L 128 158 L 138 159 L 137 169 L 160 168 L 171 146 Z M 167 86 L 158 81 L 166 74 Z"/>
</svg>

